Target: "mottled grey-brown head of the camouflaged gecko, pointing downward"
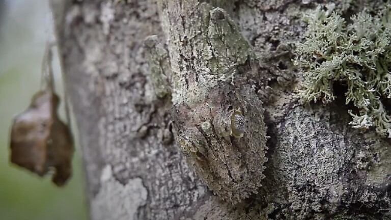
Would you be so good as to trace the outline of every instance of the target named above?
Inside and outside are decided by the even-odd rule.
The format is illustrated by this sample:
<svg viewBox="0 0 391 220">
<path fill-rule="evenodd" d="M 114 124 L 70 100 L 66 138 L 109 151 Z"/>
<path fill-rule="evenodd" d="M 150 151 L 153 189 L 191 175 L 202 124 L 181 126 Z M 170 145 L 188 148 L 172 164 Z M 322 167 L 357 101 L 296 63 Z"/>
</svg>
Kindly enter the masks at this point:
<svg viewBox="0 0 391 220">
<path fill-rule="evenodd" d="M 253 90 L 222 83 L 199 102 L 175 105 L 172 116 L 179 147 L 209 189 L 233 204 L 258 193 L 267 147 Z"/>
</svg>

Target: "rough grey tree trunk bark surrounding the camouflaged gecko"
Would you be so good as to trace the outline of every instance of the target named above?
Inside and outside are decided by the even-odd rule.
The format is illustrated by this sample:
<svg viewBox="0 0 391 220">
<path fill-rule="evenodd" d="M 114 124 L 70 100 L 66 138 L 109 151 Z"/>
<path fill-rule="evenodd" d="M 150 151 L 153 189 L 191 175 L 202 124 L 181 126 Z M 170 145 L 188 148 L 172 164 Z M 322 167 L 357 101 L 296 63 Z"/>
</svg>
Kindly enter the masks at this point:
<svg viewBox="0 0 391 220">
<path fill-rule="evenodd" d="M 341 9 L 349 1 L 332 2 Z M 376 4 L 358 2 L 346 13 Z M 303 39 L 300 13 L 318 5 L 324 3 L 53 0 L 91 218 L 391 219 L 389 141 L 350 128 L 344 100 L 308 107 L 295 96 L 300 74 L 292 67 L 291 46 Z M 267 162 L 259 164 L 261 173 L 266 167 L 262 186 L 237 203 L 214 195 L 178 147 L 173 102 L 169 94 L 155 95 L 144 45 L 150 35 L 167 43 L 173 81 L 193 74 L 192 65 L 205 62 L 189 54 L 201 50 L 194 33 L 206 30 L 200 22 L 214 7 L 227 11 L 259 58 L 251 83 L 270 136 L 260 146 L 268 149 Z"/>
</svg>

